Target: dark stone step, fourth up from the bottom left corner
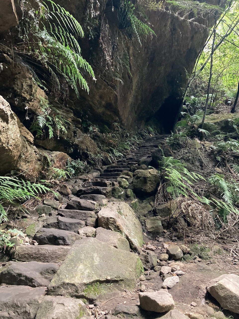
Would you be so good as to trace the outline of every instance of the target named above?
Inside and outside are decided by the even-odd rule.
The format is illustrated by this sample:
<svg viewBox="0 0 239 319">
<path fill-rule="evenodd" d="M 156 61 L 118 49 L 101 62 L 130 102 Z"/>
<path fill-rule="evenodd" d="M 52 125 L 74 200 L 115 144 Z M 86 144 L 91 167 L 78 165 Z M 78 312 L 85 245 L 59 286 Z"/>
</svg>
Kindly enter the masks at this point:
<svg viewBox="0 0 239 319">
<path fill-rule="evenodd" d="M 68 230 L 41 228 L 33 237 L 40 245 L 73 245 L 77 234 Z"/>
</svg>

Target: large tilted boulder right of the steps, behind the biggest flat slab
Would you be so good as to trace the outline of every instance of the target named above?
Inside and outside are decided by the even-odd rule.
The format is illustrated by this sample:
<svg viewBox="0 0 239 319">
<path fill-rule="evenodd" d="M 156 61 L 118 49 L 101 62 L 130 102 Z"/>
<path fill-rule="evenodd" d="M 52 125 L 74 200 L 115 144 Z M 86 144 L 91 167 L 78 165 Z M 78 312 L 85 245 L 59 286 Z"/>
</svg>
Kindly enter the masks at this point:
<svg viewBox="0 0 239 319">
<path fill-rule="evenodd" d="M 143 244 L 143 233 L 133 209 L 125 202 L 111 202 L 98 213 L 99 227 L 123 234 L 132 249 L 139 249 Z"/>
</svg>

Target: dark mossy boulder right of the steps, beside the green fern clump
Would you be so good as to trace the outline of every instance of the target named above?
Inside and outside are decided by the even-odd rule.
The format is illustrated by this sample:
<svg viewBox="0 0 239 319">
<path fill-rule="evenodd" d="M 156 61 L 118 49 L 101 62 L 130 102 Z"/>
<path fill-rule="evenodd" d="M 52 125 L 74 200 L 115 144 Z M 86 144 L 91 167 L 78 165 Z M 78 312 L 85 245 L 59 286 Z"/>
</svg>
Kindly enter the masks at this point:
<svg viewBox="0 0 239 319">
<path fill-rule="evenodd" d="M 136 195 L 153 194 L 159 183 L 159 175 L 156 169 L 142 170 L 134 172 L 132 188 Z"/>
</svg>

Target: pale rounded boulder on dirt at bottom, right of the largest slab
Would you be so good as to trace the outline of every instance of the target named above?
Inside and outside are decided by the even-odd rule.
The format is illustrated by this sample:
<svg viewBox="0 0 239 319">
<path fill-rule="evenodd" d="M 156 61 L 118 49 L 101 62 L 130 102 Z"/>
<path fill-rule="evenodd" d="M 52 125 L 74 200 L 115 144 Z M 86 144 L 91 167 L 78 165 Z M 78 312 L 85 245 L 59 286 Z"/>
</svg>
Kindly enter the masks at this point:
<svg viewBox="0 0 239 319">
<path fill-rule="evenodd" d="M 165 290 L 139 293 L 140 307 L 144 310 L 165 312 L 174 307 L 172 295 Z"/>
</svg>

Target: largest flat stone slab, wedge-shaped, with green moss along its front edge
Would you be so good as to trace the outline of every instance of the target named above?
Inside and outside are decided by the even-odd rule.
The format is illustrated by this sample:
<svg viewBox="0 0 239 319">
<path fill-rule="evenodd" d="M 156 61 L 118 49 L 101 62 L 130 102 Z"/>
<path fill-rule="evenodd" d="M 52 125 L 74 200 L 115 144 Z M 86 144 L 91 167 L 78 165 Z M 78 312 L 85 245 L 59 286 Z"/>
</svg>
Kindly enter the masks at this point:
<svg viewBox="0 0 239 319">
<path fill-rule="evenodd" d="M 71 247 L 48 286 L 48 294 L 96 298 L 116 287 L 134 288 L 141 271 L 136 254 L 84 237 Z"/>
</svg>

